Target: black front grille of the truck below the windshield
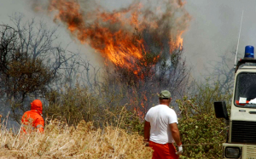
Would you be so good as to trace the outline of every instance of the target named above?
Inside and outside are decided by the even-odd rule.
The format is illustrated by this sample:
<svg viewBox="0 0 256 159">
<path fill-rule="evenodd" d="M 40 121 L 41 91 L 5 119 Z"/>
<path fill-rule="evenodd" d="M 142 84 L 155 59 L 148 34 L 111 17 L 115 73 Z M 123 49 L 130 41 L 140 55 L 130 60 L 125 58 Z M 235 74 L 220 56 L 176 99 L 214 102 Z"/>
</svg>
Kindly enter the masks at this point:
<svg viewBox="0 0 256 159">
<path fill-rule="evenodd" d="M 232 143 L 256 143 L 256 122 L 232 121 Z"/>
</svg>

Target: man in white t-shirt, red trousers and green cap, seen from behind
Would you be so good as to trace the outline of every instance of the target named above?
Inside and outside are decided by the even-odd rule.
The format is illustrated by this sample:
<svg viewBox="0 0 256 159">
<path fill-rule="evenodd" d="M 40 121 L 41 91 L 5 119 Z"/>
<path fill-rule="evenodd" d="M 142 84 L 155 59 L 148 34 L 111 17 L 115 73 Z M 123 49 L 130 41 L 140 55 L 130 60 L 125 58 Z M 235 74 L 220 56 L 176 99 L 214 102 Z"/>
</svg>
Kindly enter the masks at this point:
<svg viewBox="0 0 256 159">
<path fill-rule="evenodd" d="M 145 116 L 144 141 L 154 150 L 152 159 L 177 159 L 183 152 L 180 134 L 177 128 L 177 115 L 169 105 L 171 93 L 161 91 L 160 105 L 149 109 Z M 178 151 L 173 145 L 176 142 Z"/>
</svg>

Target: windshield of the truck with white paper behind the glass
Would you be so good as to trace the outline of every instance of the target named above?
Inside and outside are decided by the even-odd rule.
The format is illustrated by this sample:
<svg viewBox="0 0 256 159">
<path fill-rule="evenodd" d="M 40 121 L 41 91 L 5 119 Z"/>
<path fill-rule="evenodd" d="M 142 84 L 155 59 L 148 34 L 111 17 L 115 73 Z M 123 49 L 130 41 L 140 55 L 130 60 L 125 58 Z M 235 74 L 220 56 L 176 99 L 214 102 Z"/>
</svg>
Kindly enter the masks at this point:
<svg viewBox="0 0 256 159">
<path fill-rule="evenodd" d="M 256 74 L 240 73 L 236 77 L 235 105 L 256 108 Z"/>
</svg>

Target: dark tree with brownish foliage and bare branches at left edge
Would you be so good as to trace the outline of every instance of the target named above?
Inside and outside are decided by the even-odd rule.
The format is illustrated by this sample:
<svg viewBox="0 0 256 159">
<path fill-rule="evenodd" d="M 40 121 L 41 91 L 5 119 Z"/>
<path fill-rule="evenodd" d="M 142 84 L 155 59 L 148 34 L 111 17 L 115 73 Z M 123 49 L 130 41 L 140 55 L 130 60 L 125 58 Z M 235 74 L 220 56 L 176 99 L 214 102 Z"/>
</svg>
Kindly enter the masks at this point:
<svg viewBox="0 0 256 159">
<path fill-rule="evenodd" d="M 28 95 L 44 94 L 46 86 L 54 76 L 54 70 L 44 65 L 43 60 L 32 58 L 28 53 L 20 53 L 17 45 L 17 34 L 14 28 L 1 25 L 0 31 L 0 85 L 2 97 L 15 102 L 11 110 L 16 121 L 17 113 L 26 111 L 23 104 Z M 19 108 L 17 110 L 17 108 Z"/>
</svg>

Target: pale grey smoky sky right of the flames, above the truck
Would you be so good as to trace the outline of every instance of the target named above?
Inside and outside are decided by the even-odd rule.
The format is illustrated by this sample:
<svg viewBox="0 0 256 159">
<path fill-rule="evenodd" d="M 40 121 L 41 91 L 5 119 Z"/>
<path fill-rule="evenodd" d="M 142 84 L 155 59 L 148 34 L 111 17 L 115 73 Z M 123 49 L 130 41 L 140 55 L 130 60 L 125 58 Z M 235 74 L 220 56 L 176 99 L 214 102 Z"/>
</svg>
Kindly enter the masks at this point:
<svg viewBox="0 0 256 159">
<path fill-rule="evenodd" d="M 243 57 L 246 45 L 255 45 L 255 6 L 256 1 L 253 0 L 197 0 L 184 5 L 193 19 L 189 31 L 183 34 L 183 54 L 194 70 L 192 73 L 195 79 L 204 79 L 212 74 L 215 69 L 212 65 L 218 64 L 225 54 L 230 55 L 229 67 L 233 68 L 235 56 L 231 52 L 236 52 L 242 10 L 244 14 L 238 57 Z"/>
</svg>

